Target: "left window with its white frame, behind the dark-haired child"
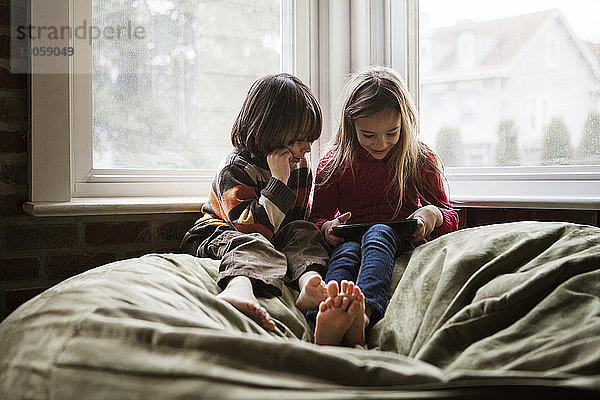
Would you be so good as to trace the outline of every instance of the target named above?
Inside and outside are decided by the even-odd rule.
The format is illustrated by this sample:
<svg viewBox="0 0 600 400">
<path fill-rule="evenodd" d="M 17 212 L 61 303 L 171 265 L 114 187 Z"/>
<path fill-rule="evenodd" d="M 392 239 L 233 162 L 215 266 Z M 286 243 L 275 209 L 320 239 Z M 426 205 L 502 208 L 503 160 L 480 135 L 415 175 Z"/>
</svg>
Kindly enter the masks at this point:
<svg viewBox="0 0 600 400">
<path fill-rule="evenodd" d="M 31 48 L 73 49 L 31 58 L 34 204 L 206 196 L 250 84 L 279 71 L 309 82 L 308 6 L 32 2 L 33 32 L 45 30 Z"/>
</svg>

